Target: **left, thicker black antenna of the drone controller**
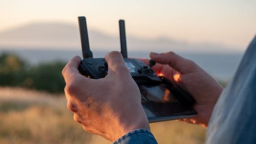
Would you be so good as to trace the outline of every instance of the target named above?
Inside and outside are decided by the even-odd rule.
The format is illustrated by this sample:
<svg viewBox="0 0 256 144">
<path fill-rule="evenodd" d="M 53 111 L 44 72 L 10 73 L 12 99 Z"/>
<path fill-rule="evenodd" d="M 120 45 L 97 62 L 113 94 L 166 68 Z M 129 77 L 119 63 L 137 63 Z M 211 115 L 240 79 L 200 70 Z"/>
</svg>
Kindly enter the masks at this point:
<svg viewBox="0 0 256 144">
<path fill-rule="evenodd" d="M 78 23 L 79 23 L 79 30 L 80 30 L 83 59 L 93 57 L 93 53 L 90 50 L 90 45 L 89 45 L 86 17 L 79 16 Z"/>
</svg>

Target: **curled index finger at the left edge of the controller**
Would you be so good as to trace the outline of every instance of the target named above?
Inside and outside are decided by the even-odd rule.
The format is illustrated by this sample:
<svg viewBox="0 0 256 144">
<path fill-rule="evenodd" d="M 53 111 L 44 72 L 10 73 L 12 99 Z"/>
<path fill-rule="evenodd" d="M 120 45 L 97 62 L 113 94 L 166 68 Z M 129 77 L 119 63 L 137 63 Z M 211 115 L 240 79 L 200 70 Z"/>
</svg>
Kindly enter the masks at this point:
<svg viewBox="0 0 256 144">
<path fill-rule="evenodd" d="M 79 56 L 75 56 L 72 58 L 68 64 L 62 70 L 62 76 L 64 77 L 66 83 L 74 76 L 81 75 L 78 71 L 78 65 L 81 62 L 81 58 Z"/>
</svg>

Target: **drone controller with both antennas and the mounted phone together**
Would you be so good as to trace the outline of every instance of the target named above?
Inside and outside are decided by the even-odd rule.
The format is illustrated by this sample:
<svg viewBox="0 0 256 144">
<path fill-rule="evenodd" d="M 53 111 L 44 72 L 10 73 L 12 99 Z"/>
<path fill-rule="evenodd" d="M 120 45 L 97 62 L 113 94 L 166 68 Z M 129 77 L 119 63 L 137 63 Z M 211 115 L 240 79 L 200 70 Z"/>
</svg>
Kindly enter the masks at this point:
<svg viewBox="0 0 256 144">
<path fill-rule="evenodd" d="M 108 64 L 104 58 L 93 58 L 89 46 L 86 17 L 78 17 L 83 60 L 78 69 L 91 79 L 104 78 L 108 74 Z M 125 65 L 140 88 L 141 103 L 149 122 L 160 122 L 185 118 L 197 114 L 192 108 L 195 100 L 186 91 L 164 77 L 159 77 L 150 66 L 138 59 L 127 58 L 124 20 L 119 20 L 121 54 Z"/>
</svg>

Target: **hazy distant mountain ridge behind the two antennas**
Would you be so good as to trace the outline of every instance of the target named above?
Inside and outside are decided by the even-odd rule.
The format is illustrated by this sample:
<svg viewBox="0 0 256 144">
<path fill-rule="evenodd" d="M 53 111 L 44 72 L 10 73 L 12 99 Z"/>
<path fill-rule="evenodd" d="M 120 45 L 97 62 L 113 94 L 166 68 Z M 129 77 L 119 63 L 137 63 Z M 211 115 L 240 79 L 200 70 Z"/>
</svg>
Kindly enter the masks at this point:
<svg viewBox="0 0 256 144">
<path fill-rule="evenodd" d="M 118 28 L 117 28 L 118 29 Z M 119 36 L 111 36 L 89 29 L 93 50 L 118 50 Z M 37 22 L 0 32 L 1 49 L 80 49 L 78 26 L 62 22 Z M 131 37 L 127 34 L 130 51 L 225 52 L 228 47 L 219 44 L 194 44 L 167 37 L 156 39 Z"/>
</svg>

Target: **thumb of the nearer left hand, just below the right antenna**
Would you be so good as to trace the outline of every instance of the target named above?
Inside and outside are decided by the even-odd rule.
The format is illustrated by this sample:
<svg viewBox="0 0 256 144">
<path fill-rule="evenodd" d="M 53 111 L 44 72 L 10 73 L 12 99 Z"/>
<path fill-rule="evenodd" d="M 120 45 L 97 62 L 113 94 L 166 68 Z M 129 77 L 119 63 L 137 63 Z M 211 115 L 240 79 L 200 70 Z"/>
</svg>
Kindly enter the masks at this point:
<svg viewBox="0 0 256 144">
<path fill-rule="evenodd" d="M 108 63 L 108 74 L 119 73 L 131 75 L 128 68 L 125 66 L 121 53 L 117 51 L 110 52 L 105 55 L 105 60 Z"/>
</svg>

